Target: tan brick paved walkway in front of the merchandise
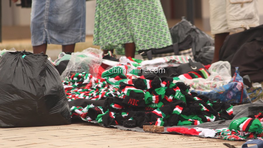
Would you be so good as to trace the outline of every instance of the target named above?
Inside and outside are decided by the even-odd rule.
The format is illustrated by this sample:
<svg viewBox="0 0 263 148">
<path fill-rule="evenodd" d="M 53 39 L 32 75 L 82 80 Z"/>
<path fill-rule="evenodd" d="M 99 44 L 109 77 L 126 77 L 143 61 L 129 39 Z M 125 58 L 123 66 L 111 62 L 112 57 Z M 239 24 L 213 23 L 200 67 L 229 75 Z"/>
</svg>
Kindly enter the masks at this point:
<svg viewBox="0 0 263 148">
<path fill-rule="evenodd" d="M 192 136 L 144 133 L 103 128 L 92 123 L 61 126 L 0 128 L 0 148 L 4 147 L 94 147 L 94 148 L 197 148 L 241 147 L 243 141 L 226 141 Z"/>
</svg>

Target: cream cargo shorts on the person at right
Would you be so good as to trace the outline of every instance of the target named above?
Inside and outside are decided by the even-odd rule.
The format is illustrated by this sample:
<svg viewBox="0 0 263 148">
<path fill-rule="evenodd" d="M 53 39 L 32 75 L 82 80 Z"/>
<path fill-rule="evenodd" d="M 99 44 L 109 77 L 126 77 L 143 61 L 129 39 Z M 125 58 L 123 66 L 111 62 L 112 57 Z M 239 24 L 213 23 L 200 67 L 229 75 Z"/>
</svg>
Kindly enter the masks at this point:
<svg viewBox="0 0 263 148">
<path fill-rule="evenodd" d="M 209 0 L 211 34 L 259 25 L 257 0 Z"/>
</svg>

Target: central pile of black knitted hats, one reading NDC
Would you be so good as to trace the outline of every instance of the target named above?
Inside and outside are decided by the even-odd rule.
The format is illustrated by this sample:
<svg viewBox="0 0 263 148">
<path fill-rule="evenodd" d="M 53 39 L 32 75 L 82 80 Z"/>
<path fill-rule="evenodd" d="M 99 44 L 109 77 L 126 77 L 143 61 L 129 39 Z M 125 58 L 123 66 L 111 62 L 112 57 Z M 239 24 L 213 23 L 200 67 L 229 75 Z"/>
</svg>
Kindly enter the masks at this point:
<svg viewBox="0 0 263 148">
<path fill-rule="evenodd" d="M 141 76 L 127 83 L 120 82 L 121 97 L 107 97 L 104 106 L 100 107 L 72 107 L 71 114 L 85 120 L 97 120 L 104 126 L 127 128 L 198 125 L 233 118 L 230 104 L 210 102 L 206 96 L 191 94 L 189 89 L 183 82 L 173 83 L 170 77 Z"/>
</svg>

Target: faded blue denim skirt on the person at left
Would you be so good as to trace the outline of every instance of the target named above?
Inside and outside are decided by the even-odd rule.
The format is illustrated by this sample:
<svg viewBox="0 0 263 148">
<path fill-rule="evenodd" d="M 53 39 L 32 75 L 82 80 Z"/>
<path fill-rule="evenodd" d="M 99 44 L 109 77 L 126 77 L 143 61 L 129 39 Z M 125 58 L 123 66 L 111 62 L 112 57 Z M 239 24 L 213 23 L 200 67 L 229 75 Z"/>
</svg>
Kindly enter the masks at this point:
<svg viewBox="0 0 263 148">
<path fill-rule="evenodd" d="M 85 0 L 32 0 L 32 46 L 85 42 Z"/>
</svg>

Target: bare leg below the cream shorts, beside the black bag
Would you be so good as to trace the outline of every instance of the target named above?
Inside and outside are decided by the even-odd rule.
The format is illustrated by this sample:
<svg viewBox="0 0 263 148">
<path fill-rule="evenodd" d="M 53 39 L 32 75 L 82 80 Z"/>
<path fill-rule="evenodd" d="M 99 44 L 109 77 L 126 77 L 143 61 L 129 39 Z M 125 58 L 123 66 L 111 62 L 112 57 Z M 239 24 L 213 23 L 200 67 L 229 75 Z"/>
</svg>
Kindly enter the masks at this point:
<svg viewBox="0 0 263 148">
<path fill-rule="evenodd" d="M 220 48 L 222 47 L 224 40 L 226 39 L 226 36 L 228 35 L 229 35 L 229 32 L 219 33 L 214 36 L 214 58 L 212 60 L 212 63 L 219 61 Z"/>
</svg>

